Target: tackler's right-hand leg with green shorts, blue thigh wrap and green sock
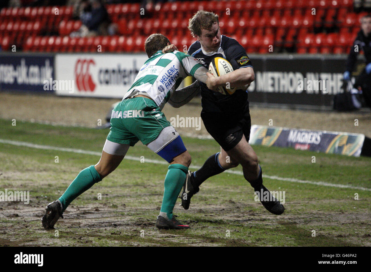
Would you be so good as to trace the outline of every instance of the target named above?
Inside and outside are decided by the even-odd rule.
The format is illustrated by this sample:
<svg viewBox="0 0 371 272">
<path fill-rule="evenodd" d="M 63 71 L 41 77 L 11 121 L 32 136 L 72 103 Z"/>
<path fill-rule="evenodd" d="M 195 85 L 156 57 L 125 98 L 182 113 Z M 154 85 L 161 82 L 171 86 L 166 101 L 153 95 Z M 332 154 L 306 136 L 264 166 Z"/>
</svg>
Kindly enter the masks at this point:
<svg viewBox="0 0 371 272">
<path fill-rule="evenodd" d="M 164 197 L 156 226 L 158 228 L 189 228 L 173 218 L 173 208 L 188 173 L 191 156 L 178 132 L 166 120 L 164 113 L 153 100 L 144 97 L 130 100 L 133 110 L 134 108 L 143 109 L 143 113 L 139 114 L 141 117 L 128 118 L 125 121 L 128 127 L 132 127 L 131 132 L 170 164 L 164 181 Z"/>
</svg>

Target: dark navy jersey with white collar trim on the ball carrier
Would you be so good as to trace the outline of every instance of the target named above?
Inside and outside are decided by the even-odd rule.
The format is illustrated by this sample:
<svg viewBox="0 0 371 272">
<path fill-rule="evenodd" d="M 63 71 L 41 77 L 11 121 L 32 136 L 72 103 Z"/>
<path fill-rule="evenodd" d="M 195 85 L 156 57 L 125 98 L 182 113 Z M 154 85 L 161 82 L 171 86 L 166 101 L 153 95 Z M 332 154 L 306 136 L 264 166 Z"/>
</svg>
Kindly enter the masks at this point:
<svg viewBox="0 0 371 272">
<path fill-rule="evenodd" d="M 224 35 L 221 35 L 221 43 L 217 51 L 206 53 L 202 50 L 200 42 L 195 41 L 189 47 L 188 55 L 197 58 L 207 69 L 209 69 L 211 60 L 216 57 L 222 57 L 228 60 L 232 64 L 233 70 L 243 67 L 253 67 L 251 60 L 246 54 L 246 50 L 238 41 Z M 236 90 L 232 95 L 224 95 L 211 91 L 202 82 L 200 82 L 200 85 L 203 112 L 238 111 L 247 103 L 246 90 Z"/>
</svg>

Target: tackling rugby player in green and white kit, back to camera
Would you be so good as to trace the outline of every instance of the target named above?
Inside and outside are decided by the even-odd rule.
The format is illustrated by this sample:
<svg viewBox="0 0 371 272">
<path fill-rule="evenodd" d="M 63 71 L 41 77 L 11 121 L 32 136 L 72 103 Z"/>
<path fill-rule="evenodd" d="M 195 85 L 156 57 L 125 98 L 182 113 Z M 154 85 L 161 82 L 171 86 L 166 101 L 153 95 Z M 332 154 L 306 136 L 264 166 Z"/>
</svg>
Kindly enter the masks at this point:
<svg viewBox="0 0 371 272">
<path fill-rule="evenodd" d="M 73 199 L 114 171 L 129 147 L 139 140 L 170 164 L 164 182 L 160 215 L 156 221 L 157 228 L 189 228 L 175 218 L 173 208 L 188 173 L 191 156 L 161 110 L 169 98 L 177 93 L 175 90 L 185 77 L 196 77 L 213 90 L 215 88 L 211 85 L 215 86 L 213 81 L 216 78 L 208 74 L 207 69 L 195 58 L 177 50 L 163 53 L 162 48 L 174 50 L 168 38 L 161 34 L 152 34 L 145 41 L 149 58 L 122 101 L 112 111 L 111 130 L 101 159 L 97 164 L 83 169 L 63 195 L 47 205 L 42 217 L 45 229 L 52 229 L 59 217 L 63 218 L 63 212 Z M 182 91 L 174 95 L 174 101 L 182 100 Z M 187 102 L 183 101 L 184 104 Z"/>
</svg>

